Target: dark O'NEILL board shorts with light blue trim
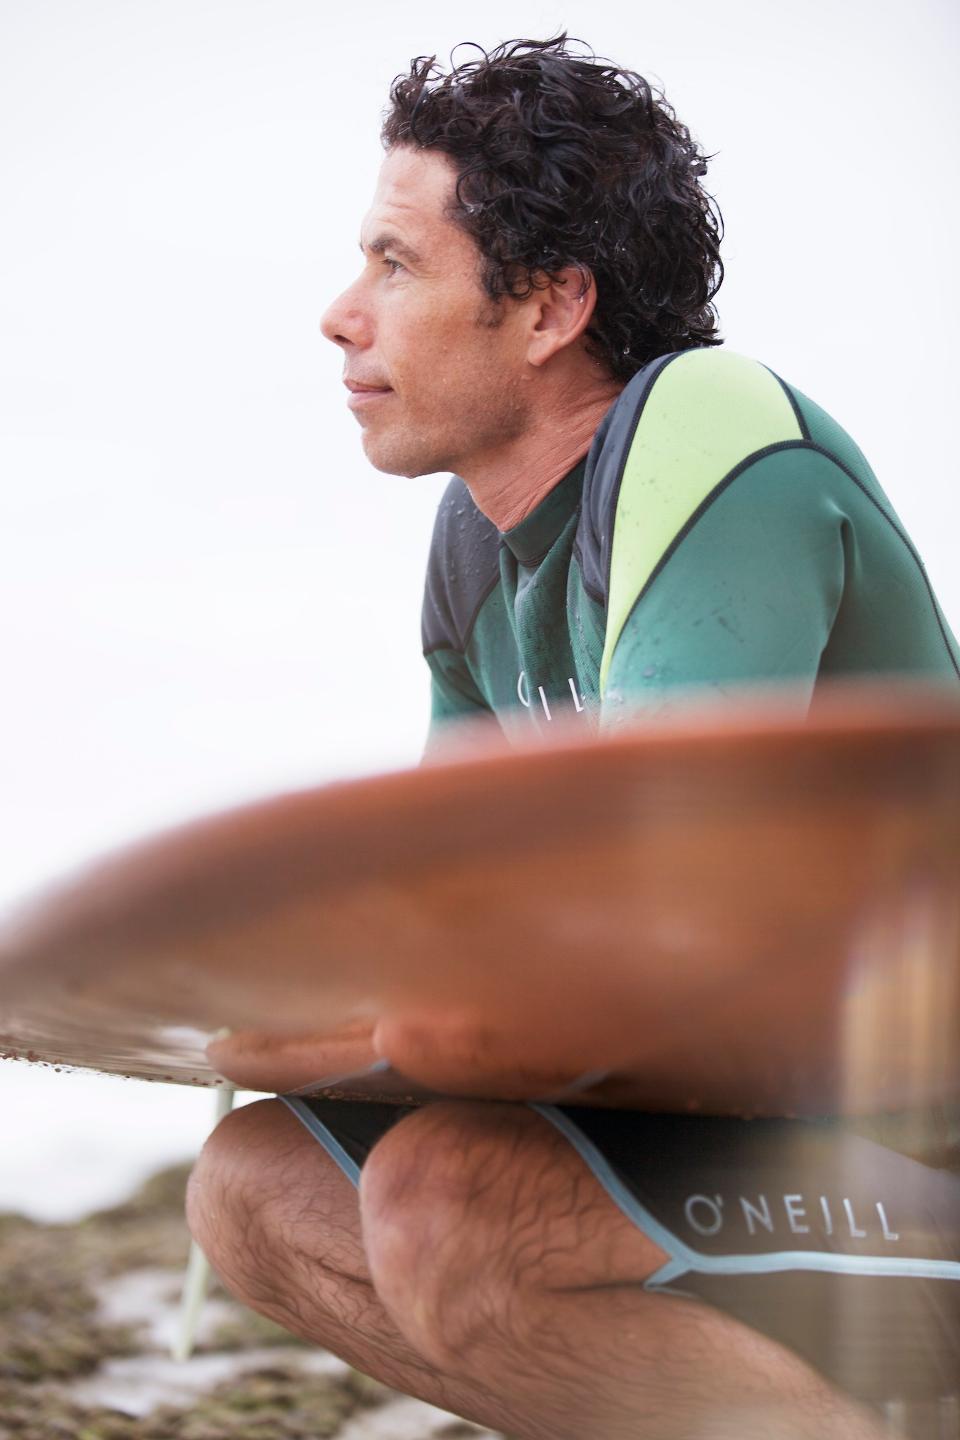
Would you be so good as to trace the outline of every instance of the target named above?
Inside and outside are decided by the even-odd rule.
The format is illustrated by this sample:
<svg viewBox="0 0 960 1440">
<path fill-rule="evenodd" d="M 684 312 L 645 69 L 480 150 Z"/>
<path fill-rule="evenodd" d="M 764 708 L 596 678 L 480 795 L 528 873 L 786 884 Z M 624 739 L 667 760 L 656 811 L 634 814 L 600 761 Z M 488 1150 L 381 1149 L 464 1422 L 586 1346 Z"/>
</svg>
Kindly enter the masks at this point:
<svg viewBox="0 0 960 1440">
<path fill-rule="evenodd" d="M 281 1096 L 354 1184 L 409 1106 Z M 712 1305 L 917 1440 L 960 1437 L 960 1172 L 839 1120 L 533 1104 Z M 940 1156 L 943 1161 L 944 1156 Z"/>
</svg>

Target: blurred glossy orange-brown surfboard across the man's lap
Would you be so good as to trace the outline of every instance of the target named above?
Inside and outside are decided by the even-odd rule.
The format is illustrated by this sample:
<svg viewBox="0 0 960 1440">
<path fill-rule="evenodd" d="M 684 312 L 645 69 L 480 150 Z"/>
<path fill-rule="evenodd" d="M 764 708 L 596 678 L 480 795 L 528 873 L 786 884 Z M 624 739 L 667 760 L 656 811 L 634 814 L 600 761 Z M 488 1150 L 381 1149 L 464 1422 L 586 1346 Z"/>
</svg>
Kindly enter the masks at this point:
<svg viewBox="0 0 960 1440">
<path fill-rule="evenodd" d="M 0 1054 L 402 1102 L 954 1102 L 960 698 L 485 729 L 147 837 L 0 922 Z"/>
</svg>

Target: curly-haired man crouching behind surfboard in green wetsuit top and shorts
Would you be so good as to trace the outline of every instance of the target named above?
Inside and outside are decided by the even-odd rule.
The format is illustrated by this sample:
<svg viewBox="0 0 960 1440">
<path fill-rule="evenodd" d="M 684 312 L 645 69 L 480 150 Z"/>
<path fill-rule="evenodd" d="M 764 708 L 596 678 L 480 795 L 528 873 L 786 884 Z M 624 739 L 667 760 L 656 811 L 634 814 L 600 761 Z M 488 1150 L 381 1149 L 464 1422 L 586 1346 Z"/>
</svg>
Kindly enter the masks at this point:
<svg viewBox="0 0 960 1440">
<path fill-rule="evenodd" d="M 743 683 L 789 681 L 803 706 L 830 675 L 960 683 L 856 446 L 715 348 L 705 166 L 642 78 L 566 37 L 449 75 L 419 60 L 384 144 L 361 274 L 322 328 L 370 461 L 458 477 L 423 609 L 430 749 L 455 717 L 518 734 Z M 757 1200 L 760 1259 L 704 1263 L 721 1185 L 702 1175 L 792 1189 L 797 1156 L 823 1205 L 813 1221 L 784 1197 L 790 1253 Z M 694 1162 L 702 1207 L 682 1214 Z M 953 1176 L 829 1125 L 292 1099 L 226 1120 L 189 1200 L 248 1303 L 544 1440 L 877 1434 L 861 1400 L 948 1421 L 957 1210 Z M 877 1316 L 869 1345 L 862 1325 L 823 1344 L 836 1305 Z"/>
</svg>

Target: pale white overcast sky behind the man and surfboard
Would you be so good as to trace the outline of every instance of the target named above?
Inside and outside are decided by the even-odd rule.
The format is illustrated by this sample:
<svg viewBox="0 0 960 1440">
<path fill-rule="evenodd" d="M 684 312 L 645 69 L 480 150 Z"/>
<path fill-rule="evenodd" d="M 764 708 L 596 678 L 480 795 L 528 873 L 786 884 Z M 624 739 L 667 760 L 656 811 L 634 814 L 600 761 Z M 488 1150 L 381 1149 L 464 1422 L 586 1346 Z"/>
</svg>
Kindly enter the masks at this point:
<svg viewBox="0 0 960 1440">
<path fill-rule="evenodd" d="M 951 0 L 6 0 L 0 899 L 416 762 L 445 480 L 370 469 L 317 323 L 393 75 L 560 27 L 718 151 L 727 343 L 852 432 L 960 628 Z M 6 1064 L 0 1116 L 0 1208 L 68 1212 L 187 1153 L 207 1099 Z"/>
</svg>

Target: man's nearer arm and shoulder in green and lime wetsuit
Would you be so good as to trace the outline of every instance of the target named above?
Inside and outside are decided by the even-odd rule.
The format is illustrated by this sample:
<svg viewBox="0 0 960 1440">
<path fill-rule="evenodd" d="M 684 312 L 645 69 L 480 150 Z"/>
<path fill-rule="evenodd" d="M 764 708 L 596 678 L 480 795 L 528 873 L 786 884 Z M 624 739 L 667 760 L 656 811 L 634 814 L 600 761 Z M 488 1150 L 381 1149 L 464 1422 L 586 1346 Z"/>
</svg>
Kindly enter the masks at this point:
<svg viewBox="0 0 960 1440">
<path fill-rule="evenodd" d="M 789 684 L 806 710 L 823 675 L 960 681 L 957 642 L 866 459 L 756 361 L 694 351 L 649 393 L 638 377 L 593 494 L 604 724 L 694 690 Z"/>
</svg>

